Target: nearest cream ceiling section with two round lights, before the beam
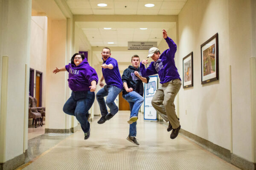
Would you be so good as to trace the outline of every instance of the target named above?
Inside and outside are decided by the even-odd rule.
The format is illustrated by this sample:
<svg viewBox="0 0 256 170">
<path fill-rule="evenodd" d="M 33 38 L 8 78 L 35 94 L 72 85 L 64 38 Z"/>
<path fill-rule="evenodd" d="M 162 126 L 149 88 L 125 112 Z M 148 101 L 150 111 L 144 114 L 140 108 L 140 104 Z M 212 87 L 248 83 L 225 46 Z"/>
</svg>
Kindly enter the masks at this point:
<svg viewBox="0 0 256 170">
<path fill-rule="evenodd" d="M 177 15 L 187 0 L 66 0 L 73 14 L 95 15 Z M 108 6 L 99 7 L 97 4 Z M 148 8 L 144 5 L 153 3 Z M 125 7 L 126 6 L 126 7 Z"/>
</svg>

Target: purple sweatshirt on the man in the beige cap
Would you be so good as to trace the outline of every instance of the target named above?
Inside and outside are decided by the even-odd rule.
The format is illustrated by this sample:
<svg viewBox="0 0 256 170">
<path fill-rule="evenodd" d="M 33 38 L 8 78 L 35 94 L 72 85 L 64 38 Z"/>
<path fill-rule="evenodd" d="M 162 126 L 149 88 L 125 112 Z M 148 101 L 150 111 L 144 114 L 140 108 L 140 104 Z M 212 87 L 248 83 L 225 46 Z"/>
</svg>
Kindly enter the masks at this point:
<svg viewBox="0 0 256 170">
<path fill-rule="evenodd" d="M 140 62 L 140 71 L 142 77 L 158 74 L 161 84 L 170 82 L 173 79 L 180 79 L 180 75 L 174 61 L 177 45 L 169 37 L 166 37 L 165 40 L 169 46 L 169 49 L 163 51 L 157 61 L 151 62 L 148 68 L 145 68 L 145 65 Z"/>
</svg>

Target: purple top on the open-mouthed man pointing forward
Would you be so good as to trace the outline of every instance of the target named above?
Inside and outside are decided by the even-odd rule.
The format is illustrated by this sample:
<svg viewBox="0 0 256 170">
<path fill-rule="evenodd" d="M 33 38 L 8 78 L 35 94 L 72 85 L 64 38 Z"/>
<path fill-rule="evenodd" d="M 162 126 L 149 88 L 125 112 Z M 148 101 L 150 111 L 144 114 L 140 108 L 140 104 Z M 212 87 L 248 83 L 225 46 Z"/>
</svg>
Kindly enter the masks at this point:
<svg viewBox="0 0 256 170">
<path fill-rule="evenodd" d="M 122 79 L 121 79 L 121 75 L 119 72 L 119 68 L 118 68 L 116 59 L 108 57 L 108 59 L 106 61 L 104 61 L 103 64 L 107 64 L 107 65 L 112 64 L 113 65 L 113 69 L 102 68 L 102 74 L 103 74 L 106 84 L 113 85 L 113 86 L 116 86 L 116 87 L 122 89 L 123 88 Z"/>
</svg>

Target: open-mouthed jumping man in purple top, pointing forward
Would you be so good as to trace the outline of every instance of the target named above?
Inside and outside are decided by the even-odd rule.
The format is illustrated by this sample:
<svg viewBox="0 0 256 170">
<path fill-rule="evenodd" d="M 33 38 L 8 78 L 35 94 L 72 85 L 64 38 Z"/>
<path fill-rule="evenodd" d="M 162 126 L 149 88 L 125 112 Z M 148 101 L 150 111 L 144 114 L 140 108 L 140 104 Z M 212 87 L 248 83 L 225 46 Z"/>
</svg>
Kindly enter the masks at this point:
<svg viewBox="0 0 256 170">
<path fill-rule="evenodd" d="M 118 64 L 116 59 L 111 58 L 111 51 L 109 48 L 105 47 L 102 49 L 102 78 L 99 81 L 99 86 L 102 87 L 96 94 L 96 99 L 99 103 L 99 108 L 102 117 L 99 119 L 98 123 L 105 123 L 107 120 L 111 119 L 117 112 L 118 107 L 115 104 L 116 96 L 122 91 L 122 79 L 119 72 Z M 104 86 L 102 82 L 105 79 L 107 85 Z M 104 97 L 107 96 L 106 102 Z M 108 113 L 107 105 L 110 109 Z"/>
</svg>

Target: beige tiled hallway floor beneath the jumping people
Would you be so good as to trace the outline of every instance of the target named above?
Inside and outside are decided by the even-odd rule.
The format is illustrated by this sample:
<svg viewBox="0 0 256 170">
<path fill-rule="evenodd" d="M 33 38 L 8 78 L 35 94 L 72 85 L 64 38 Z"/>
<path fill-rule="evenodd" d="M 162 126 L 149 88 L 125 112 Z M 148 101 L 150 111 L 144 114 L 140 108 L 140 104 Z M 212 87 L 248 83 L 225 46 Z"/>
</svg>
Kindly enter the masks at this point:
<svg viewBox="0 0 256 170">
<path fill-rule="evenodd" d="M 157 122 L 137 122 L 137 139 L 128 136 L 128 111 L 119 111 L 102 125 L 91 123 L 91 136 L 84 140 L 81 130 L 44 152 L 24 170 L 239 170 L 232 164 L 170 132 Z M 39 146 L 40 147 L 40 146 Z"/>
</svg>

